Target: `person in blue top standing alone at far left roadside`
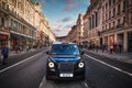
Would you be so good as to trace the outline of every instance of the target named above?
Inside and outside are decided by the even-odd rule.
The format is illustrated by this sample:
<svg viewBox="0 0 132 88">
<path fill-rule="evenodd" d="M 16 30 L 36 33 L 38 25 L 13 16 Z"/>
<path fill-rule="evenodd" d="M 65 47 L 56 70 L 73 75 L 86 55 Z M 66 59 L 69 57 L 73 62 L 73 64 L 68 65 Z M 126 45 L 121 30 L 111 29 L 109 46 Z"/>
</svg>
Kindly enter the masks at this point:
<svg viewBox="0 0 132 88">
<path fill-rule="evenodd" d="M 9 47 L 7 45 L 3 45 L 2 48 L 1 48 L 1 54 L 3 56 L 2 58 L 2 64 L 6 65 L 7 64 L 7 59 L 8 59 L 8 56 L 9 56 Z"/>
</svg>

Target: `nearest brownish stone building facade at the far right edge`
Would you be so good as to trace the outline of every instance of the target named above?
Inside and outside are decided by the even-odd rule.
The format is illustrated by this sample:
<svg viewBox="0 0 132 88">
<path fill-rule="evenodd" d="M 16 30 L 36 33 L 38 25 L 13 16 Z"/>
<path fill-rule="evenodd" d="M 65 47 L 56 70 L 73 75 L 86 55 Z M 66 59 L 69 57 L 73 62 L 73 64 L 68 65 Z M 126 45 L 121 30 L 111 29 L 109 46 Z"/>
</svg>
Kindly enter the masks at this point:
<svg viewBox="0 0 132 88">
<path fill-rule="evenodd" d="M 102 1 L 102 43 L 121 45 L 132 52 L 131 0 Z"/>
</svg>

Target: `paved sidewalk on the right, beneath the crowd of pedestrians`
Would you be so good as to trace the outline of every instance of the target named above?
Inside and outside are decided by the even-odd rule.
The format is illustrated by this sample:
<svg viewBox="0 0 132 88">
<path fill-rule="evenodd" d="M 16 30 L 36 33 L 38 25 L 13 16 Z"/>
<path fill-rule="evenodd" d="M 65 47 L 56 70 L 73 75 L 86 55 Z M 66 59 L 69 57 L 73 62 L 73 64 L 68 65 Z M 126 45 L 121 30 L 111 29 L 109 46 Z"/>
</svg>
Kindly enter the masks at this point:
<svg viewBox="0 0 132 88">
<path fill-rule="evenodd" d="M 95 52 L 95 51 L 87 51 L 87 52 L 98 54 L 98 55 L 103 55 L 103 56 L 109 57 L 109 58 L 113 58 L 113 59 L 118 59 L 118 61 L 121 61 L 121 62 L 132 64 L 132 53 L 113 53 L 113 54 L 110 54 L 110 53 L 107 53 L 107 52 L 102 53 L 101 50 L 99 50 L 98 52 Z"/>
</svg>

